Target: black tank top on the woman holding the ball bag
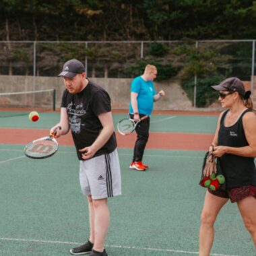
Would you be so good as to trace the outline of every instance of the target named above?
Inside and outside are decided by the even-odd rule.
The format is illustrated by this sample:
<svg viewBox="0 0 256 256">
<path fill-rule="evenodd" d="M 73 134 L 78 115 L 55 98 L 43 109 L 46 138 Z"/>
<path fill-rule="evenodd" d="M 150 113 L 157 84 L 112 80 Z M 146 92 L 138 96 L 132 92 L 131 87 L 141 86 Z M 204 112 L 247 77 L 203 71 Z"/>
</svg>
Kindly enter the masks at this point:
<svg viewBox="0 0 256 256">
<path fill-rule="evenodd" d="M 245 110 L 236 123 L 230 127 L 224 126 L 228 110 L 223 113 L 218 133 L 218 146 L 241 148 L 249 145 L 243 129 L 243 116 L 249 111 L 251 110 Z M 222 157 L 218 158 L 218 160 L 220 161 L 222 172 L 226 178 L 226 189 L 247 185 L 256 186 L 256 168 L 254 158 L 224 154 Z"/>
</svg>

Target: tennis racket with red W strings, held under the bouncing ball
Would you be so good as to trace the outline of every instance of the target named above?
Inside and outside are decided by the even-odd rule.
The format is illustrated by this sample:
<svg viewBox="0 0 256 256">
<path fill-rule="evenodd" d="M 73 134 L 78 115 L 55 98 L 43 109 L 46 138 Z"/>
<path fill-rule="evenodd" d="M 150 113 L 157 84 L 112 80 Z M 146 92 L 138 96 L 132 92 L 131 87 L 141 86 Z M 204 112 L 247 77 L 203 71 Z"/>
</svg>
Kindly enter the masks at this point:
<svg viewBox="0 0 256 256">
<path fill-rule="evenodd" d="M 58 127 L 61 129 L 61 127 Z M 43 159 L 53 156 L 59 149 L 59 144 L 55 139 L 56 131 L 49 136 L 35 139 L 28 143 L 24 148 L 25 156 L 33 159 Z"/>
</svg>

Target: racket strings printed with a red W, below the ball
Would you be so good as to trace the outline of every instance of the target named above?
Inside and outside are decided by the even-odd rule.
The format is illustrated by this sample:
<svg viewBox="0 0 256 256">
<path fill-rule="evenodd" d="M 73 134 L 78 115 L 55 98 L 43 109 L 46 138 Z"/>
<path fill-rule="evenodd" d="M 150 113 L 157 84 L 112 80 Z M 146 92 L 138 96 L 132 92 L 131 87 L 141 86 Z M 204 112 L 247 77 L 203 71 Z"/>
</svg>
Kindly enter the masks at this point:
<svg viewBox="0 0 256 256">
<path fill-rule="evenodd" d="M 52 139 L 34 141 L 26 147 L 26 155 L 33 158 L 51 156 L 58 150 L 58 144 Z"/>
</svg>

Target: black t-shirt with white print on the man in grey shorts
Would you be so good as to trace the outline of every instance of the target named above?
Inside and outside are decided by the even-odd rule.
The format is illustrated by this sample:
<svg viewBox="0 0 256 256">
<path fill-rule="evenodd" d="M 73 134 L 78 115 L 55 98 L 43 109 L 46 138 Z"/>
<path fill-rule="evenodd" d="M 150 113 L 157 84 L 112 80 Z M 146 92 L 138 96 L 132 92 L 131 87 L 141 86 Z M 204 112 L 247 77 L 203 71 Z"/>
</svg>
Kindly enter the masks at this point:
<svg viewBox="0 0 256 256">
<path fill-rule="evenodd" d="M 63 92 L 61 107 L 67 109 L 77 157 L 83 160 L 78 150 L 91 146 L 98 137 L 102 130 L 98 115 L 111 111 L 110 97 L 102 87 L 89 81 L 86 88 L 78 94 L 70 94 L 66 89 Z M 117 148 L 117 139 L 113 133 L 94 156 L 111 153 L 115 148 Z"/>
</svg>

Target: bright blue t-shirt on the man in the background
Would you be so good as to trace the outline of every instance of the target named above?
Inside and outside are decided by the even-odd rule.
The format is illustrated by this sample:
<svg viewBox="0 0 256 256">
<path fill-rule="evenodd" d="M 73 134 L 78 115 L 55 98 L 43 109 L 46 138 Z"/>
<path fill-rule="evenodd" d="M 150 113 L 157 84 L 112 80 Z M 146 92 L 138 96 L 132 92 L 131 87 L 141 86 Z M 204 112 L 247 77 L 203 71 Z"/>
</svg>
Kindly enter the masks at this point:
<svg viewBox="0 0 256 256">
<path fill-rule="evenodd" d="M 152 81 L 145 81 L 141 76 L 135 77 L 131 82 L 131 92 L 136 92 L 139 114 L 151 115 L 154 107 L 154 98 L 156 94 Z M 130 102 L 129 113 L 133 114 L 133 108 Z"/>
</svg>

